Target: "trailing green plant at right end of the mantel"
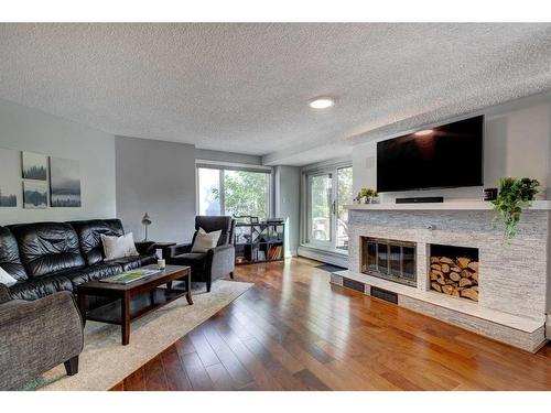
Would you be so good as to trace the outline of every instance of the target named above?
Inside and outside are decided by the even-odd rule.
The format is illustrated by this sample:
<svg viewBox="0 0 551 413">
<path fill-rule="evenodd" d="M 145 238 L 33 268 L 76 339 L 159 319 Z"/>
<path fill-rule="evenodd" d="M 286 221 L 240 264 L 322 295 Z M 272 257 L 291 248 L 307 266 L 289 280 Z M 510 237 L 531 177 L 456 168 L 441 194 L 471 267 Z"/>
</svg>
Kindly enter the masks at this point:
<svg viewBox="0 0 551 413">
<path fill-rule="evenodd" d="M 538 194 L 540 183 L 538 180 L 529 177 L 516 178 L 504 177 L 499 180 L 499 195 L 491 202 L 496 216 L 495 221 L 504 221 L 504 238 L 510 242 L 517 233 L 522 206 L 531 205 L 536 194 Z"/>
</svg>

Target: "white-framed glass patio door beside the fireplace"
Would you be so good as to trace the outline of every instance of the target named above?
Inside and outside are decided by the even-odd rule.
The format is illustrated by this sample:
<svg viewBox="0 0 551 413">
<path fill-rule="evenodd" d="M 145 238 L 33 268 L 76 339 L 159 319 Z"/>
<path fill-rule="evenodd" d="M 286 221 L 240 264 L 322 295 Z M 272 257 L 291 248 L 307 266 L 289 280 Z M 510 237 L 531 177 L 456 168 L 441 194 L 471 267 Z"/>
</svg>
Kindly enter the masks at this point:
<svg viewBox="0 0 551 413">
<path fill-rule="evenodd" d="M 326 169 L 306 174 L 307 243 L 348 250 L 348 210 L 352 204 L 352 166 Z"/>
</svg>

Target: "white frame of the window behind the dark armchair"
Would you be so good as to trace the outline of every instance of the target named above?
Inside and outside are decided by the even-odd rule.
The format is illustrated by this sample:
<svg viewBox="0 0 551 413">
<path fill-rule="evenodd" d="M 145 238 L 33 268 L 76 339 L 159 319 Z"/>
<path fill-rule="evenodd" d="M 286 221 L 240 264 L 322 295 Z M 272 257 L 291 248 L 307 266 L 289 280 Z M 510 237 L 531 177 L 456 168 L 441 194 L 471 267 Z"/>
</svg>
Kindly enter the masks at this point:
<svg viewBox="0 0 551 413">
<path fill-rule="evenodd" d="M 267 218 L 272 215 L 272 189 L 273 189 L 273 169 L 271 166 L 263 165 L 250 165 L 246 163 L 233 163 L 233 162 L 218 162 L 218 161 L 206 161 L 206 160 L 195 160 L 195 215 L 199 215 L 199 169 L 212 169 L 218 170 L 219 177 L 219 189 L 220 189 L 220 215 L 226 215 L 226 202 L 225 202 L 225 188 L 224 188 L 224 172 L 225 171 L 245 171 L 245 172 L 259 172 L 267 174 L 267 185 L 268 191 L 266 192 L 266 205 L 268 206 Z"/>
</svg>

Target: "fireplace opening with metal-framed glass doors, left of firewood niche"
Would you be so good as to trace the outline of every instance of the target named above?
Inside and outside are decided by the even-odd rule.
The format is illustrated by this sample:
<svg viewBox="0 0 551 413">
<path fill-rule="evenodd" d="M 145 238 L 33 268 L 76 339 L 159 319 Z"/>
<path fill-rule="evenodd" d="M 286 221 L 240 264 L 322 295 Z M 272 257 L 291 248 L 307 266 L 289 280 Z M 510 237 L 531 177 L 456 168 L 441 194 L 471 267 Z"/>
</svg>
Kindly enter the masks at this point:
<svg viewBox="0 0 551 413">
<path fill-rule="evenodd" d="M 360 237 L 361 272 L 406 285 L 417 285 L 415 243 Z"/>
</svg>

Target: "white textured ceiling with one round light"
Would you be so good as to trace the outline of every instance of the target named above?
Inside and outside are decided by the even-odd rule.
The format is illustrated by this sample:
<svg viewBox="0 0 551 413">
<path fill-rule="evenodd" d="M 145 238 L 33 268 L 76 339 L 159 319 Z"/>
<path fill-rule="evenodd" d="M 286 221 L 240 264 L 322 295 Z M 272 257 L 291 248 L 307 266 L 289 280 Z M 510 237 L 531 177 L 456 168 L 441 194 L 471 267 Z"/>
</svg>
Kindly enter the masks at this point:
<svg viewBox="0 0 551 413">
<path fill-rule="evenodd" d="M 0 98 L 271 164 L 549 89 L 551 24 L 0 24 Z"/>
</svg>

